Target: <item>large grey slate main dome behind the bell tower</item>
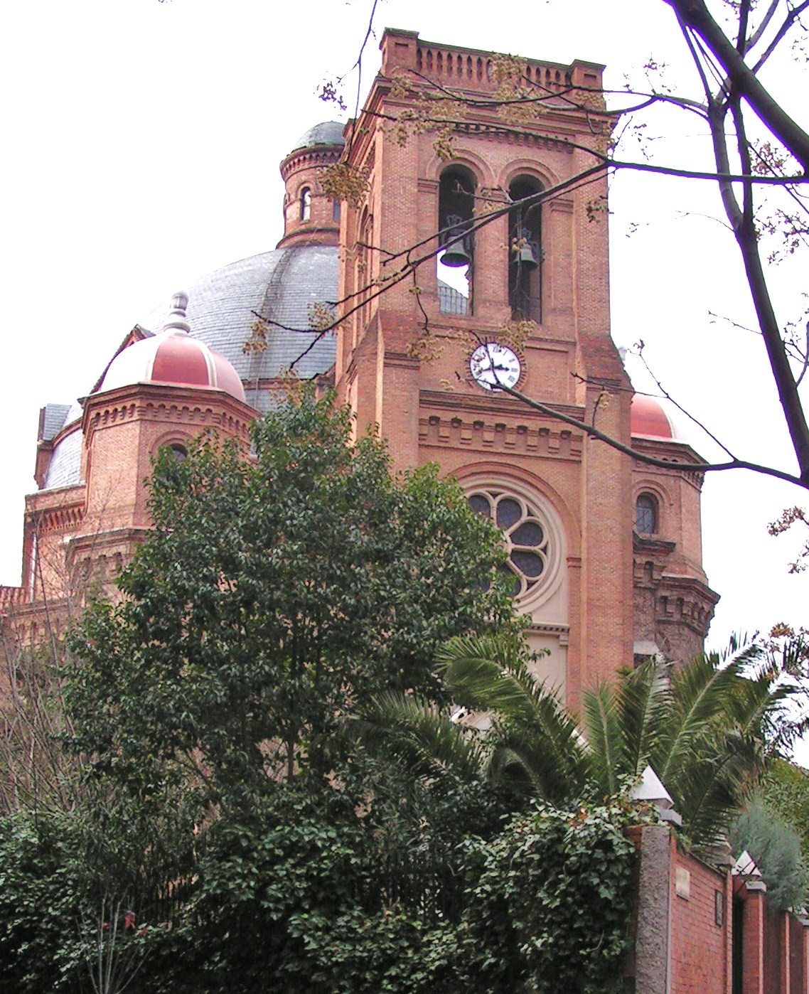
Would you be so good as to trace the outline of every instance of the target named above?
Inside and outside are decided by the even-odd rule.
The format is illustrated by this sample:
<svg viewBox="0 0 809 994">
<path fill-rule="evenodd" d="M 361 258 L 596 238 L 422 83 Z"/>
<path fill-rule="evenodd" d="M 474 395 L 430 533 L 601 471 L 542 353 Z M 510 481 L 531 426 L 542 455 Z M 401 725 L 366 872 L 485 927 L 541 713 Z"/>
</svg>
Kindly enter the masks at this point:
<svg viewBox="0 0 809 994">
<path fill-rule="evenodd" d="M 276 248 L 216 269 L 189 287 L 187 314 L 192 336 L 234 366 L 243 379 L 248 404 L 256 402 L 251 381 L 278 376 L 315 342 L 312 332 L 287 329 L 308 328 L 310 306 L 337 299 L 338 251 L 336 246 Z M 157 308 L 139 324 L 158 331 L 168 310 L 168 305 Z M 245 354 L 255 314 L 285 328 L 268 325 L 267 348 Z M 306 379 L 325 373 L 334 357 L 334 337 L 324 335 L 295 369 Z"/>
</svg>

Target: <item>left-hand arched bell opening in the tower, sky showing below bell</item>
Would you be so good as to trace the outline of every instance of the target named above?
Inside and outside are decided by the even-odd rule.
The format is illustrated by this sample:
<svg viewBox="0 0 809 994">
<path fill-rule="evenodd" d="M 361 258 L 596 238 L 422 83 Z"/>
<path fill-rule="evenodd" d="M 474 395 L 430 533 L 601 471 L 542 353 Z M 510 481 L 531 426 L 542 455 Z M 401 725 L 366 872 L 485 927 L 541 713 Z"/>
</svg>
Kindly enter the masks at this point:
<svg viewBox="0 0 809 994">
<path fill-rule="evenodd" d="M 438 308 L 445 314 L 472 313 L 475 177 L 463 166 L 441 173 L 438 187 Z"/>
</svg>

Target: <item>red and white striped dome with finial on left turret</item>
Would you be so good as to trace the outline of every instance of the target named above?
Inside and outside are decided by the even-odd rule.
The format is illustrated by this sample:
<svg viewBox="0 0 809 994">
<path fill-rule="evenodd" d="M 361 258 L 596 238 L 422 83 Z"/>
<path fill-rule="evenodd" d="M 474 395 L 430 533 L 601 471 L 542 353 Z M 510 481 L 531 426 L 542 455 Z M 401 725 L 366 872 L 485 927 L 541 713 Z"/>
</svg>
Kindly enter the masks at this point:
<svg viewBox="0 0 809 994">
<path fill-rule="evenodd" d="M 188 296 L 176 293 L 163 330 L 118 353 L 109 364 L 97 392 L 135 383 L 158 383 L 224 390 L 243 401 L 242 379 L 233 366 L 224 356 L 189 335 L 187 306 Z"/>
</svg>

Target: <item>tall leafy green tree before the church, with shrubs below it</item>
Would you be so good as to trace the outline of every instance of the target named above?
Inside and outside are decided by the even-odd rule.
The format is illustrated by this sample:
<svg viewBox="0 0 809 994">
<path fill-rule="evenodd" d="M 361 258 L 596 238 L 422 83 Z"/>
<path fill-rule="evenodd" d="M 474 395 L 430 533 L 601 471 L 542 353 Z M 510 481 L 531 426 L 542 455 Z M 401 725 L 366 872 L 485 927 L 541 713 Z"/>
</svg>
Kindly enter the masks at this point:
<svg viewBox="0 0 809 994">
<path fill-rule="evenodd" d="M 70 745 L 71 801 L 44 820 L 21 802 L 0 853 L 0 957 L 21 990 L 57 973 L 112 990 L 137 970 L 154 991 L 272 975 L 371 992 L 413 944 L 377 878 L 429 840 L 429 799 L 397 810 L 403 781 L 345 718 L 389 686 L 444 700 L 436 646 L 516 622 L 498 532 L 435 467 L 394 479 L 384 444 L 351 434 L 303 390 L 255 424 L 252 453 L 207 438 L 158 459 L 154 531 L 60 673 L 67 720 L 48 739 Z M 463 827 L 491 829 L 486 790 L 463 796 L 481 812 Z M 446 848 L 457 808 L 432 800 Z"/>
</svg>

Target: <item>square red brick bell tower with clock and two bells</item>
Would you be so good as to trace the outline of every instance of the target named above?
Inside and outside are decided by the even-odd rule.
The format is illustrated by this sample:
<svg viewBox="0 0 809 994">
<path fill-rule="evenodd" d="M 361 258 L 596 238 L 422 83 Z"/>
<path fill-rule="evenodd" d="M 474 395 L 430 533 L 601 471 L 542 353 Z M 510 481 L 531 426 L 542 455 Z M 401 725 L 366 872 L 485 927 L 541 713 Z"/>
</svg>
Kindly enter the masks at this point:
<svg viewBox="0 0 809 994">
<path fill-rule="evenodd" d="M 504 530 L 531 642 L 548 653 L 540 671 L 576 707 L 583 687 L 632 662 L 631 462 L 492 378 L 629 443 L 606 183 L 574 179 L 609 131 L 602 68 L 405 31 L 381 47 L 346 131 L 344 161 L 368 182 L 343 204 L 337 389 L 359 430 L 379 425 L 397 467 L 439 463 Z M 509 79 L 537 98 L 519 112 L 493 102 Z"/>
</svg>

